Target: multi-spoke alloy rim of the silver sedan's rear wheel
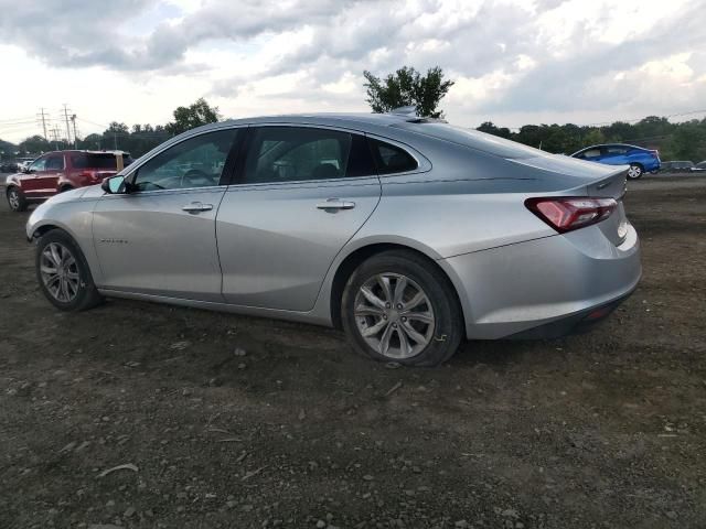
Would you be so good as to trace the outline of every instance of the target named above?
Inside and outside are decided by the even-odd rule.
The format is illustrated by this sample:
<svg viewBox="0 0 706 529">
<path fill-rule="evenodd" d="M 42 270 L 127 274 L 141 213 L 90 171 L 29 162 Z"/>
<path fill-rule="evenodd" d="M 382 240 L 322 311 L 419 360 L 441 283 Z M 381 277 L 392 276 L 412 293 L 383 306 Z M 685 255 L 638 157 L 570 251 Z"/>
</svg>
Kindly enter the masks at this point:
<svg viewBox="0 0 706 529">
<path fill-rule="evenodd" d="M 434 336 L 429 298 L 415 281 L 399 273 L 370 278 L 355 296 L 357 330 L 379 355 L 405 359 L 418 355 Z"/>
</svg>

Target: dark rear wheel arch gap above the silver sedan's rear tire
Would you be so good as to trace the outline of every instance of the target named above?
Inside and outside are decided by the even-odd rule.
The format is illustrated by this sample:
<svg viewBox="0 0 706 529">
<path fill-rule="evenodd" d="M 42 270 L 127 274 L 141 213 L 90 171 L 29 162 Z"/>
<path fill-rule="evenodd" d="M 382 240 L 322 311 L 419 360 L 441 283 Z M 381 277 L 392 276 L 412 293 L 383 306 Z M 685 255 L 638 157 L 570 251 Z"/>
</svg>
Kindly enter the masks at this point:
<svg viewBox="0 0 706 529">
<path fill-rule="evenodd" d="M 463 334 L 466 335 L 466 321 L 468 316 L 468 304 L 463 302 L 461 295 L 459 295 L 460 279 L 456 276 L 450 267 L 443 267 L 443 260 L 436 256 L 430 249 L 420 249 L 417 245 L 409 245 L 406 241 L 371 241 L 367 244 L 359 245 L 356 248 L 343 257 L 335 268 L 335 272 L 331 280 L 330 295 L 329 295 L 329 311 L 331 314 L 331 323 L 334 328 L 342 328 L 341 321 L 341 302 L 343 299 L 343 291 L 351 274 L 355 269 L 365 260 L 373 256 L 382 253 L 388 250 L 406 250 L 411 251 L 421 257 L 427 263 L 438 271 L 449 281 L 449 285 L 456 294 L 456 301 L 461 307 L 461 319 L 463 320 Z"/>
</svg>

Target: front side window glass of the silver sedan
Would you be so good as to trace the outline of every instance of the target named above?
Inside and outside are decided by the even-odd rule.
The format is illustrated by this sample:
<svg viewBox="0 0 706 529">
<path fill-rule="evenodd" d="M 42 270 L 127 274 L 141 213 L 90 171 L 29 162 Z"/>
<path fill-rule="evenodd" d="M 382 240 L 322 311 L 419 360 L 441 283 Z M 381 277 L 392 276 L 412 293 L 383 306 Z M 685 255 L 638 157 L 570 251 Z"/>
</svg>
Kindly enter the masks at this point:
<svg viewBox="0 0 706 529">
<path fill-rule="evenodd" d="M 220 185 L 238 129 L 189 138 L 157 154 L 137 170 L 136 191 L 179 190 Z"/>
</svg>

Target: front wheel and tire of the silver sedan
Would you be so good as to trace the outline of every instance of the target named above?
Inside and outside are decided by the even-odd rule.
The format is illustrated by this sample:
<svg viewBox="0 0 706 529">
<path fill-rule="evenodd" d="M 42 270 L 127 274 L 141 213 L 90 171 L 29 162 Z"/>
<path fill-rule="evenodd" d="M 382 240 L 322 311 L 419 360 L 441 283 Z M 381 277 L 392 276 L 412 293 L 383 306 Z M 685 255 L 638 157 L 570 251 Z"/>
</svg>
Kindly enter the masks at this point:
<svg viewBox="0 0 706 529">
<path fill-rule="evenodd" d="M 40 237 L 34 262 L 40 289 L 57 309 L 85 311 L 103 301 L 86 258 L 66 231 L 52 229 Z"/>
</svg>

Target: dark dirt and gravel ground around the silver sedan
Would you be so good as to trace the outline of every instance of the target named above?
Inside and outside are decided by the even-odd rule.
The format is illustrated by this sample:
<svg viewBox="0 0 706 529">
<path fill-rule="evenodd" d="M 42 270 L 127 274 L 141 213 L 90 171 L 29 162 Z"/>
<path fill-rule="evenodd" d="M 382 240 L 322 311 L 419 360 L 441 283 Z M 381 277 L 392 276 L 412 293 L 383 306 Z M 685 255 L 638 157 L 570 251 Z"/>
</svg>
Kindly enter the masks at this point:
<svg viewBox="0 0 706 529">
<path fill-rule="evenodd" d="M 653 182 L 607 322 L 436 369 L 308 325 L 60 313 L 2 201 L 0 527 L 706 527 L 706 179 Z"/>
</svg>

